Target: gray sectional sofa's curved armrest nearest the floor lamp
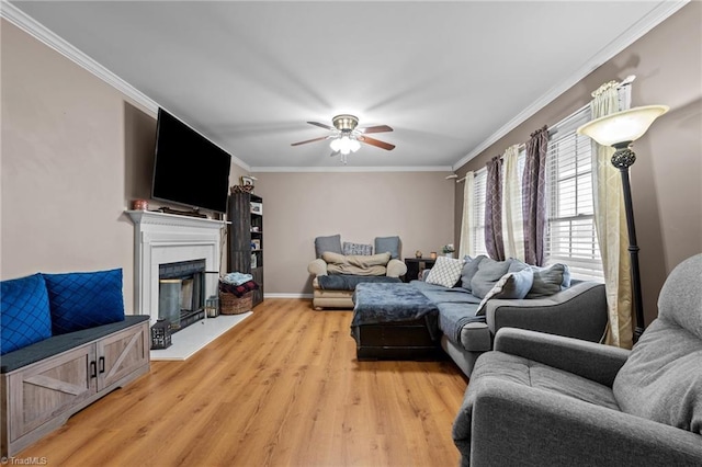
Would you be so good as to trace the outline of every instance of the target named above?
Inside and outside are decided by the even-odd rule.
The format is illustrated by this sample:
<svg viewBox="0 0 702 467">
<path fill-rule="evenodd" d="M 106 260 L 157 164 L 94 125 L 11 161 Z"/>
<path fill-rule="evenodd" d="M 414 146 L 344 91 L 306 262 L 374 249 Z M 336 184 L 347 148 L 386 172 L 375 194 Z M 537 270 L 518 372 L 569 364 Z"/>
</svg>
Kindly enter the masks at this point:
<svg viewBox="0 0 702 467">
<path fill-rule="evenodd" d="M 485 315 L 492 334 L 508 327 L 599 342 L 608 321 L 604 284 L 581 282 L 544 298 L 489 300 Z"/>
</svg>

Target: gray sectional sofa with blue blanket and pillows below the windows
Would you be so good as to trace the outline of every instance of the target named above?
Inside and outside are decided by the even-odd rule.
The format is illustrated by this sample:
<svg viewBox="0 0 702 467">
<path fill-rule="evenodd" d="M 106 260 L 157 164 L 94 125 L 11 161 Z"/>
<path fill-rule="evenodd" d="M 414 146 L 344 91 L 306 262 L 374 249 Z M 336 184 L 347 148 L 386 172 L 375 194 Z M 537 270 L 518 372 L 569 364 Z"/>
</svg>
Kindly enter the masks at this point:
<svg viewBox="0 0 702 467">
<path fill-rule="evenodd" d="M 401 310 L 407 301 L 404 297 L 410 295 L 422 298 L 414 298 L 414 304 Z M 467 376 L 478 355 L 492 349 L 500 328 L 599 342 L 608 320 L 603 284 L 571 281 L 564 264 L 535 267 L 513 259 L 495 261 L 486 257 L 439 258 L 426 281 L 360 284 L 354 300 L 351 334 L 356 340 L 360 358 L 395 358 L 403 354 L 416 357 L 411 352 L 393 350 L 393 344 L 383 341 L 382 335 L 383 332 L 394 335 L 390 327 L 417 324 L 420 318 L 427 328 L 426 335 L 415 342 L 401 340 L 397 346 L 426 346 L 429 337 L 431 344 L 442 348 Z M 421 308 L 421 316 L 417 307 Z M 427 318 L 431 316 L 435 316 L 435 324 Z M 381 330 L 372 335 L 366 332 L 371 327 Z"/>
</svg>

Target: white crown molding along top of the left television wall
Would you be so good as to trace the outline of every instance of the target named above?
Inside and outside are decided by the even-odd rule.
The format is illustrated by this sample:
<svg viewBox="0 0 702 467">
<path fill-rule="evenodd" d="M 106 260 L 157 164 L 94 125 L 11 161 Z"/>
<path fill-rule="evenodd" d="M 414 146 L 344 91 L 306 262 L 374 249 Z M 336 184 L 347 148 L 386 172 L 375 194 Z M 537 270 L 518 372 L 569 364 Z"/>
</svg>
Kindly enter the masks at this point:
<svg viewBox="0 0 702 467">
<path fill-rule="evenodd" d="M 98 61 L 86 55 L 80 49 L 76 48 L 73 45 L 69 44 L 64 38 L 59 37 L 56 33 L 44 26 L 42 23 L 37 22 L 32 16 L 27 15 L 25 12 L 9 3 L 7 0 L 0 1 L 0 18 L 9 21 L 14 24 L 32 37 L 39 41 L 42 44 L 53 48 L 54 50 L 61 54 L 64 57 L 73 61 L 79 67 L 89 71 L 93 76 L 98 77 L 102 81 L 106 82 L 124 95 L 126 95 L 132 101 L 141 105 L 147 111 L 151 112 L 154 115 L 157 114 L 158 107 L 163 107 L 159 105 L 156 101 L 154 101 L 148 95 L 144 94 L 141 91 L 110 71 L 107 68 L 100 65 Z M 163 107 L 165 109 L 165 107 Z M 167 109 L 168 110 L 168 109 Z M 170 111 L 169 111 L 170 112 Z M 172 112 L 171 112 L 172 113 Z M 218 145 L 217 145 L 218 146 Z M 228 152 L 228 151 L 227 151 Z M 239 166 L 241 169 L 246 171 L 250 171 L 251 167 L 244 162 L 241 159 L 237 158 L 234 155 L 231 156 L 231 162 Z"/>
</svg>

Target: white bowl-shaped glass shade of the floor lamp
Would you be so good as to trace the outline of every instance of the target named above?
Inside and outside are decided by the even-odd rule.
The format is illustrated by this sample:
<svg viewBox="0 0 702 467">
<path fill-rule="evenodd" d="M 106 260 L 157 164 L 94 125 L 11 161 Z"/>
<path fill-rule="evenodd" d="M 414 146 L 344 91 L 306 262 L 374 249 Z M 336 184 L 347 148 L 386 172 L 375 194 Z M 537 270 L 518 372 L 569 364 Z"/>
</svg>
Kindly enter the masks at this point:
<svg viewBox="0 0 702 467">
<path fill-rule="evenodd" d="M 667 105 L 644 105 L 604 115 L 580 126 L 578 134 L 589 136 L 602 146 L 635 141 L 668 109 Z"/>
</svg>

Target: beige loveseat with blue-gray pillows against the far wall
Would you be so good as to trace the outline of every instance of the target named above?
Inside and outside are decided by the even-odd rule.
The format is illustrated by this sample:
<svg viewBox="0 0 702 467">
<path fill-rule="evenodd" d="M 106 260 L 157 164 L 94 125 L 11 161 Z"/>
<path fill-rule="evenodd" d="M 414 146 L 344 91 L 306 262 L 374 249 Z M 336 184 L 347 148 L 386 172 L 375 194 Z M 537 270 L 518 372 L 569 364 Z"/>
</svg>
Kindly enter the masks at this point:
<svg viewBox="0 0 702 467">
<path fill-rule="evenodd" d="M 373 251 L 375 249 L 375 254 Z M 341 243 L 341 236 L 317 237 L 317 258 L 307 265 L 313 275 L 313 307 L 353 308 L 360 283 L 401 282 L 407 272 L 400 258 L 399 237 L 376 237 L 375 244 Z"/>
</svg>

